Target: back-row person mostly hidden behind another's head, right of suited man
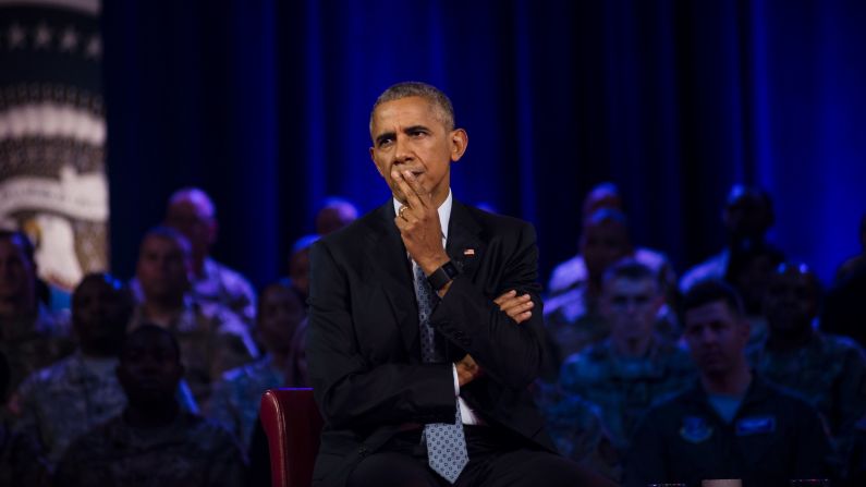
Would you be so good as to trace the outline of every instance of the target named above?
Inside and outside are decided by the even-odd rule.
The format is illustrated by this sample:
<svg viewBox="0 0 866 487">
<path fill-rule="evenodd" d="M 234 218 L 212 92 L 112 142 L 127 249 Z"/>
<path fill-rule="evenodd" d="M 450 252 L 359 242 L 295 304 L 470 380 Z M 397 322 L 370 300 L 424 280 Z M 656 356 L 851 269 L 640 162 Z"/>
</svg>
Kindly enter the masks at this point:
<svg viewBox="0 0 866 487">
<path fill-rule="evenodd" d="M 582 218 L 586 220 L 603 208 L 624 211 L 620 190 L 613 183 L 601 183 L 589 191 L 584 198 Z M 658 273 L 660 281 L 666 287 L 666 293 L 669 289 L 676 290 L 676 275 L 664 254 L 646 247 L 634 247 L 632 257 Z M 577 254 L 553 268 L 547 285 L 548 295 L 561 294 L 586 280 L 586 263 L 583 254 Z"/>
</svg>

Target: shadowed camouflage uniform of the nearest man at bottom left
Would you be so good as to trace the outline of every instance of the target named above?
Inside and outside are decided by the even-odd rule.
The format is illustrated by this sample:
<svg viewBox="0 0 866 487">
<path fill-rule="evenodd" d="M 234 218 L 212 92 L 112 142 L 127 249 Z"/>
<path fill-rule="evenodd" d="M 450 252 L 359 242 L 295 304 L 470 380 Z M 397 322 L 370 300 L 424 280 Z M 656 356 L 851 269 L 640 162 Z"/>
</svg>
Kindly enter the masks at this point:
<svg viewBox="0 0 866 487">
<path fill-rule="evenodd" d="M 234 438 L 200 416 L 136 428 L 123 416 L 85 434 L 66 451 L 58 486 L 240 486 L 244 460 Z"/>
</svg>

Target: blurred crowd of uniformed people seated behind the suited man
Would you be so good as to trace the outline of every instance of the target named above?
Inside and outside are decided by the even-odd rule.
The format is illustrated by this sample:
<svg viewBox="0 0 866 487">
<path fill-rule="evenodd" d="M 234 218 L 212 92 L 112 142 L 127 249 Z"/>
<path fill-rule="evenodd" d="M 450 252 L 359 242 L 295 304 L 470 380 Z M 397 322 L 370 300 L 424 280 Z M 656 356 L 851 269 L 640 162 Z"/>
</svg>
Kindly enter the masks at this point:
<svg viewBox="0 0 866 487">
<path fill-rule="evenodd" d="M 866 485 L 866 218 L 864 254 L 825 290 L 767 240 L 760 188 L 731 190 L 727 241 L 681 278 L 632 241 L 622 200 L 610 183 L 586 195 L 546 287 L 533 390 L 560 452 L 635 487 Z M 268 463 L 261 393 L 307 385 L 309 247 L 357 216 L 328 200 L 258 293 L 210 256 L 198 188 L 167 202 L 131 281 L 92 273 L 65 300 L 0 230 L 0 485 L 268 485 L 247 465 Z"/>
</svg>

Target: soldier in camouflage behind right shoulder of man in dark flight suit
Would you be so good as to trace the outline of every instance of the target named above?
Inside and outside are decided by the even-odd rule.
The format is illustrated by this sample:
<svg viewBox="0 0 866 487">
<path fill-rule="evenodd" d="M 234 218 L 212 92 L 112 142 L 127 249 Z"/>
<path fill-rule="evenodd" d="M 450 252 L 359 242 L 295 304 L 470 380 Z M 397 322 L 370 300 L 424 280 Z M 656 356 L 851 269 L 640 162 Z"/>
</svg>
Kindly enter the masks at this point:
<svg viewBox="0 0 866 487">
<path fill-rule="evenodd" d="M 819 296 L 818 279 L 805 265 L 781 265 L 765 299 L 770 334 L 749 349 L 748 357 L 764 377 L 818 410 L 841 455 L 854 424 L 866 414 L 866 357 L 853 340 L 814 328 Z"/>
</svg>

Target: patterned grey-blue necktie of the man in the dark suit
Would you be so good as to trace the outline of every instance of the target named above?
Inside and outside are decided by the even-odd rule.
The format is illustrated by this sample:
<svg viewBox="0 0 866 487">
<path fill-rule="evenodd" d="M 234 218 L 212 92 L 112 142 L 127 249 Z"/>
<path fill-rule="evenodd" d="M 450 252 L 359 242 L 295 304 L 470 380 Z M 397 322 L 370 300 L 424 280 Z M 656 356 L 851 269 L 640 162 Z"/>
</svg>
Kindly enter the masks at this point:
<svg viewBox="0 0 866 487">
<path fill-rule="evenodd" d="M 442 362 L 442 354 L 436 350 L 434 329 L 430 327 L 434 295 L 424 270 L 417 265 L 415 270 L 415 296 L 418 299 L 418 321 L 420 322 L 420 358 L 423 362 Z M 469 461 L 466 452 L 466 438 L 463 436 L 463 422 L 460 418 L 460 404 L 454 423 L 430 423 L 424 425 L 427 441 L 427 462 L 436 473 L 453 484 Z"/>
</svg>

